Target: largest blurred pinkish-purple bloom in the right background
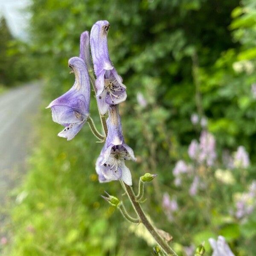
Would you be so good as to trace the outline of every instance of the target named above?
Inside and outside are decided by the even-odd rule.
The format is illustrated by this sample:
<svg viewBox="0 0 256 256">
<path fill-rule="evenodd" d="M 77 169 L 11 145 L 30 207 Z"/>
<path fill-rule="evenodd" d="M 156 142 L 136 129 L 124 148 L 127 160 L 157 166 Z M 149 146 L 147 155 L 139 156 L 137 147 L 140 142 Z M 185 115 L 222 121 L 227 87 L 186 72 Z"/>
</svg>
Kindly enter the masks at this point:
<svg viewBox="0 0 256 256">
<path fill-rule="evenodd" d="M 199 140 L 198 160 L 200 163 L 206 162 L 207 166 L 212 166 L 216 158 L 215 138 L 209 132 L 202 131 Z"/>
</svg>

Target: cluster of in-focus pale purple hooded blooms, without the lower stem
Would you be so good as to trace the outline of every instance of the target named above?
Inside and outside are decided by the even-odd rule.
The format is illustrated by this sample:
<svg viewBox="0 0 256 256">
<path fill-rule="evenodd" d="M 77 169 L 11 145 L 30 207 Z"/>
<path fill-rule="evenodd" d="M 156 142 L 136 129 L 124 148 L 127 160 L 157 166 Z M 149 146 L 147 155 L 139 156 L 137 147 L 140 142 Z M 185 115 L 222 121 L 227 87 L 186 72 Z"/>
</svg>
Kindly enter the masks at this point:
<svg viewBox="0 0 256 256">
<path fill-rule="evenodd" d="M 93 89 L 99 112 L 102 116 L 108 112 L 109 116 L 108 134 L 96 161 L 96 172 L 100 182 L 121 179 L 131 186 L 131 173 L 125 166 L 125 160 L 135 161 L 136 158 L 133 150 L 124 143 L 122 135 L 118 104 L 125 101 L 127 94 L 122 78 L 117 74 L 108 55 L 109 28 L 107 20 L 100 20 L 93 25 L 90 33 L 85 31 L 81 34 L 80 55 L 71 58 L 68 63 L 75 74 L 75 83 L 67 93 L 52 101 L 47 108 L 52 110 L 53 121 L 64 126 L 58 136 L 72 140 L 90 118 L 89 77 L 93 75 L 88 70 L 93 69 L 96 75 Z"/>
</svg>

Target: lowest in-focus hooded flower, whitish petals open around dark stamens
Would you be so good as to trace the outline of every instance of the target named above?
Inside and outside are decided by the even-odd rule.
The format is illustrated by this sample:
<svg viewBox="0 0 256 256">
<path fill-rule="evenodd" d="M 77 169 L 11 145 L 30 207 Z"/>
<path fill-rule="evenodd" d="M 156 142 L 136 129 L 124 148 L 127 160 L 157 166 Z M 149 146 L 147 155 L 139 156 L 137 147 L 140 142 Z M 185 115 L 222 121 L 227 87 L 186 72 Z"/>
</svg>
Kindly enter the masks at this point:
<svg viewBox="0 0 256 256">
<path fill-rule="evenodd" d="M 106 182 L 121 179 L 131 186 L 131 172 L 125 166 L 125 160 L 136 161 L 136 158 L 133 150 L 124 143 L 118 106 L 110 105 L 107 125 L 108 136 L 96 161 L 96 172 L 99 175 L 99 181 Z"/>
</svg>

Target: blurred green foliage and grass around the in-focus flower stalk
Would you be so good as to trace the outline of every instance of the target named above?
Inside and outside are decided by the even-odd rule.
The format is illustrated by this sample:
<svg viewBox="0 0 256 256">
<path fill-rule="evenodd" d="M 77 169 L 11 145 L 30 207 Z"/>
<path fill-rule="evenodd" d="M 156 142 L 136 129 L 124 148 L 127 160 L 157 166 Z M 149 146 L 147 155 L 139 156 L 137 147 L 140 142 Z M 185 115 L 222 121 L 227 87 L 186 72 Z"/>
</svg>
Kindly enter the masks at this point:
<svg viewBox="0 0 256 256">
<path fill-rule="evenodd" d="M 6 58 L 0 63 L 0 83 L 43 79 L 47 105 L 73 84 L 67 61 L 79 54 L 81 32 L 90 31 L 96 20 L 108 20 L 111 59 L 128 88 L 120 111 L 126 142 L 138 157 L 138 163 L 129 164 L 134 187 L 145 172 L 159 175 L 147 186 L 143 207 L 172 234 L 179 255 L 186 255 L 183 246 L 220 234 L 236 255 L 255 255 L 255 212 L 244 223 L 227 220 L 233 193 L 246 190 L 256 176 L 256 100 L 251 93 L 256 81 L 255 1 L 32 0 L 29 9 L 29 43 L 1 29 Z M 7 67 L 17 72 L 10 74 Z M 144 109 L 137 103 L 138 92 L 148 101 Z M 136 237 L 131 224 L 99 197 L 104 190 L 122 197 L 118 182 L 97 181 L 94 163 L 102 145 L 88 127 L 68 143 L 56 137 L 60 126 L 43 106 L 38 143 L 25 182 L 15 192 L 23 200 L 12 209 L 12 243 L 3 253 L 149 255 L 149 239 Z M 247 184 L 241 185 L 236 170 L 234 186 L 212 180 L 207 196 L 202 191 L 191 198 L 189 183 L 183 189 L 174 186 L 175 162 L 189 159 L 187 147 L 201 131 L 192 125 L 192 113 L 208 118 L 208 130 L 216 138 L 216 166 L 221 166 L 224 150 L 245 146 L 251 160 Z M 99 125 L 95 102 L 91 115 Z M 161 207 L 163 192 L 178 198 L 180 213 L 174 222 Z M 206 209 L 207 201 L 211 206 Z M 206 248 L 210 255 L 208 243 Z"/>
</svg>

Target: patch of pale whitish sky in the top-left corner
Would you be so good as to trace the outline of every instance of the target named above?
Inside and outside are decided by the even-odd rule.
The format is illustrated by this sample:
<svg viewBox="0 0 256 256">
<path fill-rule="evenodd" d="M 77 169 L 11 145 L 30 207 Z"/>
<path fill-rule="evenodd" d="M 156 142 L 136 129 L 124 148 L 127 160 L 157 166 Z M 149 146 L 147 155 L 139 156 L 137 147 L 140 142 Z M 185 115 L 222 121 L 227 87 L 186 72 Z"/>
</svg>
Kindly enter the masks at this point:
<svg viewBox="0 0 256 256">
<path fill-rule="evenodd" d="M 29 23 L 29 12 L 23 11 L 29 5 L 29 0 L 0 0 L 0 16 L 4 16 L 12 35 L 26 40 L 26 28 Z"/>
</svg>

